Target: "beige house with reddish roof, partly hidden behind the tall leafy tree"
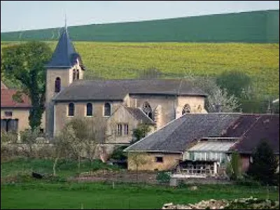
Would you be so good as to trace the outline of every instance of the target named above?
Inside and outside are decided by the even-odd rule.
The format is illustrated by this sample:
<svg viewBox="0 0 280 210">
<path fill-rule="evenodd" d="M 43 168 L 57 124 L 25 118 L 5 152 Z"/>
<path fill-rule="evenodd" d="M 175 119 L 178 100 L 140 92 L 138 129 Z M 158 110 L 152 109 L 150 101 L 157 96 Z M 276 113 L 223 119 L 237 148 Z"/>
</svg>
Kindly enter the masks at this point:
<svg viewBox="0 0 280 210">
<path fill-rule="evenodd" d="M 20 99 L 13 96 L 18 90 L 8 89 L 1 81 L 1 131 L 16 132 L 29 129 L 29 111 L 31 102 L 26 94 L 22 94 Z M 45 119 L 42 118 L 42 129 L 44 129 Z"/>
</svg>

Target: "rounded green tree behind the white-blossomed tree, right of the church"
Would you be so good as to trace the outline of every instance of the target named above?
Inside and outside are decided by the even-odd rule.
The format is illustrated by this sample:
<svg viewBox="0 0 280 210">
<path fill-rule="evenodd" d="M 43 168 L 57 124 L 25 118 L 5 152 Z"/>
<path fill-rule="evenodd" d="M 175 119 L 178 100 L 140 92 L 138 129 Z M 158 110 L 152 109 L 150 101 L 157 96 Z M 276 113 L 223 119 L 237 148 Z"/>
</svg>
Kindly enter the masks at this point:
<svg viewBox="0 0 280 210">
<path fill-rule="evenodd" d="M 216 83 L 221 89 L 228 90 L 228 94 L 242 99 L 248 96 L 251 78 L 241 71 L 224 71 L 217 76 Z"/>
</svg>

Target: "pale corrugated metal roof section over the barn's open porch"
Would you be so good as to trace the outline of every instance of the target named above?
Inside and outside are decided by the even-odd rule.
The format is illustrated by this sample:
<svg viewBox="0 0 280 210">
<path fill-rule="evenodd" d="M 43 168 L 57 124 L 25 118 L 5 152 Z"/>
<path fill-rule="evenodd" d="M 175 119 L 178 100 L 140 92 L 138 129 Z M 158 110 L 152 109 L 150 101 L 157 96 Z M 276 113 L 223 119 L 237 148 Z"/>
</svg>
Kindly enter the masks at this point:
<svg viewBox="0 0 280 210">
<path fill-rule="evenodd" d="M 200 141 L 195 146 L 188 149 L 193 152 L 226 152 L 236 141 Z"/>
</svg>

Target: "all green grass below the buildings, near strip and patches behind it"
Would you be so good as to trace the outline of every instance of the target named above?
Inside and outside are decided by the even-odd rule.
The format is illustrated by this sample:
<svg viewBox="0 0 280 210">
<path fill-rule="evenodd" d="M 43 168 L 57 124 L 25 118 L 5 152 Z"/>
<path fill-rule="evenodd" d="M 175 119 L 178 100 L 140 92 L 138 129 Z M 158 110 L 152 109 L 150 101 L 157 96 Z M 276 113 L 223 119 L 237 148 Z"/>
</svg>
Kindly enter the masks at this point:
<svg viewBox="0 0 280 210">
<path fill-rule="evenodd" d="M 100 162 L 84 164 L 81 172 L 108 167 Z M 58 162 L 57 174 L 75 176 L 75 162 Z M 196 203 L 209 199 L 232 200 L 259 197 L 277 200 L 278 191 L 261 186 L 204 185 L 172 188 L 132 183 L 77 183 L 48 179 L 34 180 L 31 171 L 52 172 L 51 160 L 18 159 L 1 161 L 1 209 L 161 209 L 165 203 Z M 21 174 L 21 176 L 19 176 Z M 25 176 L 22 176 L 24 175 Z M 29 174 L 29 175 L 28 175 Z M 27 177 L 28 175 L 28 177 Z M 11 178 L 15 179 L 11 179 Z"/>
</svg>

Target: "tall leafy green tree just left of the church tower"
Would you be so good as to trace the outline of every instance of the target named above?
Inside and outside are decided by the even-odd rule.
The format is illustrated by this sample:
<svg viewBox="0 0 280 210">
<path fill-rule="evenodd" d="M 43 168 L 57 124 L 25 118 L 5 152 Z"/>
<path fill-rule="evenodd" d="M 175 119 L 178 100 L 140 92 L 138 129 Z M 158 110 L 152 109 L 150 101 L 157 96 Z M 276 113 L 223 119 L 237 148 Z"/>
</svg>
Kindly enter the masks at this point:
<svg viewBox="0 0 280 210">
<path fill-rule="evenodd" d="M 1 71 L 18 80 L 22 92 L 31 100 L 29 125 L 33 131 L 40 127 L 45 104 L 45 67 L 52 50 L 43 42 L 11 45 L 2 50 Z M 3 69 L 3 70 L 2 70 Z M 22 94 L 18 92 L 18 94 Z"/>
</svg>

